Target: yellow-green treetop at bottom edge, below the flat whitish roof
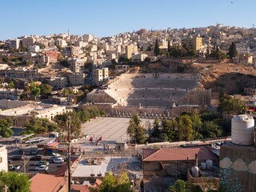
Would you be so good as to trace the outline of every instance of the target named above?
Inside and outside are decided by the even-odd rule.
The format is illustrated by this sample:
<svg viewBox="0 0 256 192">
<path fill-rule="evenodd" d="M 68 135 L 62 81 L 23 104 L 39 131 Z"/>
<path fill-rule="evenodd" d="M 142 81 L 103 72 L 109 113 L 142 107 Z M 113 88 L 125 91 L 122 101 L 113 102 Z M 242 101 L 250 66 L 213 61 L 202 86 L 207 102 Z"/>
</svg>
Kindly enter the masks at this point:
<svg viewBox="0 0 256 192">
<path fill-rule="evenodd" d="M 132 192 L 133 190 L 130 188 L 130 180 L 125 171 L 120 172 L 118 175 L 114 175 L 113 172 L 110 171 L 109 174 L 106 174 L 102 184 L 99 186 L 99 189 L 90 189 L 90 191 Z"/>
</svg>

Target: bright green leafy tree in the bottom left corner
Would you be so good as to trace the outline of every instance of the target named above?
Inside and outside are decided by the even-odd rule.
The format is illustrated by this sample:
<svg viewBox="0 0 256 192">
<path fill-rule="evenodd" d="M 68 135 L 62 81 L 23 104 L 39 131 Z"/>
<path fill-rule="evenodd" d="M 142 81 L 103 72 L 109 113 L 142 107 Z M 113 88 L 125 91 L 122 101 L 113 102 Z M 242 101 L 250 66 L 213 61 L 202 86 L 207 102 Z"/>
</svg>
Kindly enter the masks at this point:
<svg viewBox="0 0 256 192">
<path fill-rule="evenodd" d="M 18 172 L 0 172 L 0 188 L 6 185 L 8 191 L 12 192 L 30 192 L 30 180 L 27 174 Z"/>
</svg>

